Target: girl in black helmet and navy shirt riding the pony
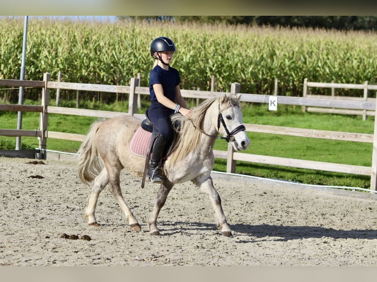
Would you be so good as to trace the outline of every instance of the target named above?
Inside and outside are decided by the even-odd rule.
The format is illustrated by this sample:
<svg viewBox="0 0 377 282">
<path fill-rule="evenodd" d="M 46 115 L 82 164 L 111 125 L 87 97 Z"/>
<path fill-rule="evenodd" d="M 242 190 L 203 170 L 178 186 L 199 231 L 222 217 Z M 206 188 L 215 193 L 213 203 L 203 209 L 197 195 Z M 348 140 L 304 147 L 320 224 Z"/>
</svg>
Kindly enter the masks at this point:
<svg viewBox="0 0 377 282">
<path fill-rule="evenodd" d="M 192 114 L 181 95 L 179 72 L 170 66 L 175 51 L 173 41 L 167 37 L 157 37 L 151 44 L 151 56 L 155 58 L 155 63 L 149 76 L 151 105 L 148 118 L 159 132 L 148 169 L 148 176 L 154 183 L 161 183 L 163 180 L 159 163 L 166 141 L 172 136 L 170 115 L 181 113 L 189 118 Z"/>
</svg>

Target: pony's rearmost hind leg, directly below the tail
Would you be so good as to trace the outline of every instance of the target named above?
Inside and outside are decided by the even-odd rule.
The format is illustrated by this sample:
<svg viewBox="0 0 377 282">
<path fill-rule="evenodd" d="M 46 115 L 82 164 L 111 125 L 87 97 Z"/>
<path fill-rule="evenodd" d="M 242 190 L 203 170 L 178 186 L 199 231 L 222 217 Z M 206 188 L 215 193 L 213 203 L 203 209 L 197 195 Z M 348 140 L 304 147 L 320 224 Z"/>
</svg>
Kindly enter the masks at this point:
<svg viewBox="0 0 377 282">
<path fill-rule="evenodd" d="M 99 194 L 102 192 L 103 188 L 109 183 L 109 177 L 105 168 L 95 177 L 94 184 L 92 188 L 92 193 L 88 200 L 88 205 L 85 210 L 84 217 L 88 220 L 88 224 L 92 226 L 99 226 L 95 220 L 95 207 L 97 205 L 97 200 Z"/>
</svg>

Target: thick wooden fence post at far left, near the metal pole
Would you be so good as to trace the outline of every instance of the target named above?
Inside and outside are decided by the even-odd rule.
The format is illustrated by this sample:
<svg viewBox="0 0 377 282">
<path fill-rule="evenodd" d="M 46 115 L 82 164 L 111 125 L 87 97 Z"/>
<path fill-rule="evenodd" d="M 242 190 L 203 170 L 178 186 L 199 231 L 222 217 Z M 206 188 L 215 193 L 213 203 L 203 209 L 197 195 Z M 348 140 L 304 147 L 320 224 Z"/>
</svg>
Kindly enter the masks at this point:
<svg viewBox="0 0 377 282">
<path fill-rule="evenodd" d="M 48 129 L 48 113 L 47 106 L 50 103 L 50 89 L 47 88 L 47 83 L 51 81 L 51 74 L 43 74 L 44 87 L 42 88 L 42 107 L 43 112 L 39 114 L 39 130 L 42 132 L 41 137 L 39 138 L 39 149 L 47 148 L 47 129 Z M 46 159 L 46 152 L 42 154 L 42 158 Z"/>
</svg>

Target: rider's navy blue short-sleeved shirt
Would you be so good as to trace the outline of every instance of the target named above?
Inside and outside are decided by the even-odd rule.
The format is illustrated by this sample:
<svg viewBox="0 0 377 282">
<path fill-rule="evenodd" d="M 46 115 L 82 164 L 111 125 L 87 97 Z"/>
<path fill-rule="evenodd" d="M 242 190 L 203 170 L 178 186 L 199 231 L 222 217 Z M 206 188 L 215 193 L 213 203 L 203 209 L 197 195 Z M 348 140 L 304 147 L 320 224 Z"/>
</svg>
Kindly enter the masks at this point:
<svg viewBox="0 0 377 282">
<path fill-rule="evenodd" d="M 149 92 L 151 101 L 157 101 L 154 84 L 162 85 L 163 94 L 171 101 L 175 99 L 175 86 L 181 83 L 181 78 L 177 69 L 169 66 L 169 70 L 164 70 L 159 65 L 155 66 L 149 75 Z"/>
</svg>

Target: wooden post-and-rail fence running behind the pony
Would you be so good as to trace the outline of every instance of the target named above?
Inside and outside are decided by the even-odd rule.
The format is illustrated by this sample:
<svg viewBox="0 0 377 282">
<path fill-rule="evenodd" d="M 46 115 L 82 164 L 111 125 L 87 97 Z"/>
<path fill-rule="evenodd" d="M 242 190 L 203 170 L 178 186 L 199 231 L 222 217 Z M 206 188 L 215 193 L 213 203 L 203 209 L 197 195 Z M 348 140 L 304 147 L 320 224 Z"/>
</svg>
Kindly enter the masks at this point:
<svg viewBox="0 0 377 282">
<path fill-rule="evenodd" d="M 149 95 L 148 87 L 140 87 L 139 80 L 132 78 L 129 86 L 117 85 L 95 85 L 95 84 L 79 84 L 66 82 L 53 82 L 51 75 L 45 73 L 43 81 L 19 81 L 19 80 L 0 80 L 0 86 L 23 86 L 23 87 L 39 87 L 42 88 L 42 105 L 41 106 L 26 106 L 26 105 L 8 105 L 0 104 L 0 111 L 21 111 L 21 112 L 39 112 L 40 113 L 40 127 L 37 130 L 12 130 L 0 129 L 2 136 L 35 136 L 39 140 L 39 148 L 47 148 L 47 139 L 63 139 L 71 141 L 83 141 L 85 135 L 71 134 L 63 132 L 54 132 L 48 130 L 48 114 L 59 113 L 69 115 L 83 115 L 95 116 L 103 118 L 111 118 L 116 115 L 130 114 L 139 119 L 144 118 L 144 114 L 137 114 L 137 96 Z M 316 83 L 307 83 L 307 86 L 316 86 Z M 333 84 L 321 84 L 320 87 L 336 87 Z M 339 86 L 339 85 L 338 85 Z M 305 85 L 304 85 L 305 87 Z M 98 91 L 110 93 L 127 93 L 129 94 L 128 113 L 117 113 L 108 111 L 86 110 L 77 108 L 63 108 L 49 106 L 49 91 L 50 89 L 73 89 L 83 91 Z M 377 89 L 377 85 L 368 85 L 368 89 Z M 187 98 L 208 99 L 211 97 L 218 97 L 222 92 L 215 91 L 200 91 L 200 90 L 181 90 L 182 95 Z M 231 93 L 240 93 L 240 85 L 233 83 L 231 85 Z M 270 95 L 261 94 L 246 94 L 242 93 L 241 101 L 250 103 L 269 103 Z M 303 107 L 320 107 L 320 108 L 336 108 L 358 111 L 376 111 L 376 101 L 354 101 L 349 99 L 335 99 L 335 98 L 314 98 L 314 97 L 288 97 L 288 96 L 273 96 L 278 104 L 283 105 L 298 105 Z M 265 155 L 254 155 L 242 152 L 234 152 L 231 146 L 228 146 L 228 151 L 215 150 L 215 157 L 227 160 L 227 172 L 235 172 L 236 161 L 252 162 L 259 164 L 278 165 L 285 167 L 294 167 L 302 169 L 325 170 L 333 172 L 343 172 L 351 174 L 369 175 L 371 176 L 371 190 L 376 191 L 377 183 L 377 135 L 349 133 L 338 131 L 324 131 L 313 129 L 301 129 L 271 125 L 245 124 L 247 132 L 257 132 L 265 134 L 279 134 L 288 136 L 297 136 L 305 138 L 320 138 L 330 140 L 342 141 L 356 141 L 373 143 L 372 167 L 335 164 L 326 162 L 316 162 L 301 159 L 281 158 Z M 374 132 L 377 132 L 377 123 L 375 122 Z M 46 156 L 44 156 L 45 158 Z"/>
</svg>

